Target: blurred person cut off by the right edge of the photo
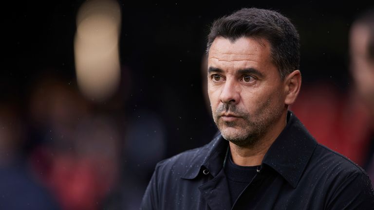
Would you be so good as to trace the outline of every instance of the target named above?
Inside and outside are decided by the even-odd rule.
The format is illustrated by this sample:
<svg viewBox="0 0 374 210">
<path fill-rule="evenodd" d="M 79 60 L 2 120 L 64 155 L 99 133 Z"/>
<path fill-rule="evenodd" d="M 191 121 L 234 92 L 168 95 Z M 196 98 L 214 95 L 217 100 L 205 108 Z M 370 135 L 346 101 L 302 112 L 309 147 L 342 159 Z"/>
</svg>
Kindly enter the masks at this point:
<svg viewBox="0 0 374 210">
<path fill-rule="evenodd" d="M 355 93 L 365 106 L 369 118 L 367 129 L 369 146 L 364 167 L 374 183 L 374 9 L 362 13 L 350 31 L 351 74 Z"/>
</svg>

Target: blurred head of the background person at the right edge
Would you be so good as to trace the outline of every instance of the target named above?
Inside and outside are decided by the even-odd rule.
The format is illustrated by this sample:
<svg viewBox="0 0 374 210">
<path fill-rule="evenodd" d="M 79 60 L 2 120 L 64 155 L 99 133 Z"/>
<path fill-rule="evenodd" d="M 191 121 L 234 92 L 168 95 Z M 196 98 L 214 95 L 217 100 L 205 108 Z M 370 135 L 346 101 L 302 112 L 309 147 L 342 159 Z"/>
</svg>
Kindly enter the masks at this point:
<svg viewBox="0 0 374 210">
<path fill-rule="evenodd" d="M 374 9 L 362 14 L 353 23 L 350 55 L 357 91 L 374 116 Z"/>
</svg>

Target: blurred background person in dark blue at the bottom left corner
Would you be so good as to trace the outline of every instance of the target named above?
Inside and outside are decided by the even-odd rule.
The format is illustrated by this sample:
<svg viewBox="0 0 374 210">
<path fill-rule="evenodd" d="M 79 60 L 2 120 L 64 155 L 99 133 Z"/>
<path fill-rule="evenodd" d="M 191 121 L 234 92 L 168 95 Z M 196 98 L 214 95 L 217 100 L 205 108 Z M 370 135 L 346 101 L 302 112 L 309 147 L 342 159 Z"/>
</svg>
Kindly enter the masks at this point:
<svg viewBox="0 0 374 210">
<path fill-rule="evenodd" d="M 0 209 L 59 210 L 56 197 L 30 170 L 21 113 L 18 105 L 0 105 Z"/>
</svg>

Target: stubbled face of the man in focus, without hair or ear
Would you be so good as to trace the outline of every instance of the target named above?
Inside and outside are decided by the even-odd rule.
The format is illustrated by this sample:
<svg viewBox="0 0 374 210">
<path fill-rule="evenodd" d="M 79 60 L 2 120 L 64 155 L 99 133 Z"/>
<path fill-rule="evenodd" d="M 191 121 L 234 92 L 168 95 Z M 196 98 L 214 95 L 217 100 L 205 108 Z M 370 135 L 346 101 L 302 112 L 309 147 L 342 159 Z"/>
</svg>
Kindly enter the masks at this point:
<svg viewBox="0 0 374 210">
<path fill-rule="evenodd" d="M 207 79 L 214 122 L 236 145 L 254 145 L 287 109 L 267 40 L 242 37 L 231 43 L 217 37 L 209 50 Z"/>
</svg>

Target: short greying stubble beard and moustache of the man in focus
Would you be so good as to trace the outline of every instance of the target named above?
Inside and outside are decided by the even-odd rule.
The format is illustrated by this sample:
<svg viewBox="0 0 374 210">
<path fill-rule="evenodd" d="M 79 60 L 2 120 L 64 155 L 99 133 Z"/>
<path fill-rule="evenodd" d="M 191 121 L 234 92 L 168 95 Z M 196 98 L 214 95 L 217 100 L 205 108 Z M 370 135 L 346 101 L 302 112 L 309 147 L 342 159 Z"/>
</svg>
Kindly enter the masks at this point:
<svg viewBox="0 0 374 210">
<path fill-rule="evenodd" d="M 239 147 L 254 147 L 268 133 L 272 125 L 281 117 L 281 107 L 270 107 L 271 101 L 267 100 L 255 113 L 249 114 L 246 110 L 234 104 L 221 104 L 213 111 L 213 120 L 221 131 L 225 140 Z M 234 122 L 225 122 L 220 119 L 222 112 L 230 112 L 241 116 Z"/>
</svg>

